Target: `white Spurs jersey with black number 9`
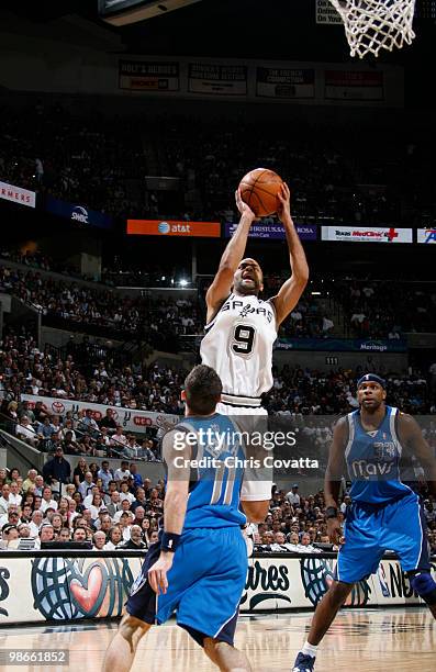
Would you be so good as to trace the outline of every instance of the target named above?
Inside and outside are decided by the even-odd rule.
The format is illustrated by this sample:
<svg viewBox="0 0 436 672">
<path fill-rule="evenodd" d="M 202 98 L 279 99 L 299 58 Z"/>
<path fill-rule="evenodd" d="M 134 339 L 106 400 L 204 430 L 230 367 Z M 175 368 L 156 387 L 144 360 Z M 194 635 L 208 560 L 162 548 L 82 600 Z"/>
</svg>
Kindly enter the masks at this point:
<svg viewBox="0 0 436 672">
<path fill-rule="evenodd" d="M 223 401 L 260 405 L 260 395 L 272 388 L 272 345 L 276 313 L 270 301 L 256 295 L 231 294 L 205 326 L 200 355 L 223 383 Z M 245 397 L 245 399 L 244 399 Z"/>
</svg>

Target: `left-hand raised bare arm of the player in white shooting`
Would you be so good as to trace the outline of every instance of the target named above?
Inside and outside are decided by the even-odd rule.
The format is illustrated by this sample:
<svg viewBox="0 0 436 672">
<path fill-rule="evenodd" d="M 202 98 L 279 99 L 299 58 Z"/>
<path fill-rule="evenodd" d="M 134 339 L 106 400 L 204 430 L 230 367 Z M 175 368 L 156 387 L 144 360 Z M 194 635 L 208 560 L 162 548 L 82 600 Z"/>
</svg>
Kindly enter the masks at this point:
<svg viewBox="0 0 436 672">
<path fill-rule="evenodd" d="M 232 238 L 230 239 L 223 256 L 221 257 L 220 266 L 215 278 L 205 295 L 208 305 L 208 322 L 212 320 L 215 312 L 220 309 L 222 302 L 228 296 L 233 283 L 233 276 L 239 266 L 245 248 L 249 227 L 256 219 L 255 213 L 241 198 L 239 189 L 235 192 L 236 205 L 241 212 L 239 224 Z"/>
</svg>

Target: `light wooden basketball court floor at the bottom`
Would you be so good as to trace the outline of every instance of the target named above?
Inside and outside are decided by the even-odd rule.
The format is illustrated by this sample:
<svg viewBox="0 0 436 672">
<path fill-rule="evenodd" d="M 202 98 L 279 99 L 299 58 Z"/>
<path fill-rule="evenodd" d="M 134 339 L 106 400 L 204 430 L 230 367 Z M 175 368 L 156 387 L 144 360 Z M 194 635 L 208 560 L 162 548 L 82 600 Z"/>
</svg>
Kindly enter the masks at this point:
<svg viewBox="0 0 436 672">
<path fill-rule="evenodd" d="M 237 646 L 249 657 L 254 672 L 290 672 L 308 634 L 311 613 L 242 616 Z M 68 665 L 1 665 L 5 671 L 94 672 L 101 670 L 115 623 L 70 626 L 9 627 L 0 630 L 4 649 L 69 651 Z M 212 672 L 201 649 L 174 621 L 153 628 L 138 649 L 134 672 Z M 327 634 L 316 672 L 434 672 L 436 621 L 423 607 L 344 611 Z M 114 671 L 116 672 L 116 671 Z"/>
</svg>

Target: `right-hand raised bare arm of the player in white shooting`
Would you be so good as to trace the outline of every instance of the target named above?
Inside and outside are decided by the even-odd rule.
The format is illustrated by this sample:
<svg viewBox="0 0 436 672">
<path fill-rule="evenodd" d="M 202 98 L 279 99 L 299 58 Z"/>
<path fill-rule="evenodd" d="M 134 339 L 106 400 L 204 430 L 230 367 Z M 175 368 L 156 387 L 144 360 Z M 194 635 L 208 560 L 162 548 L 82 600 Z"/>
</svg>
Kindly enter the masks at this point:
<svg viewBox="0 0 436 672">
<path fill-rule="evenodd" d="M 288 240 L 292 275 L 280 288 L 279 293 L 271 298 L 276 309 L 277 326 L 289 315 L 298 304 L 309 280 L 309 266 L 300 236 L 297 233 L 290 210 L 290 191 L 283 182 L 281 192 L 277 194 L 280 208 L 277 211 Z"/>
</svg>

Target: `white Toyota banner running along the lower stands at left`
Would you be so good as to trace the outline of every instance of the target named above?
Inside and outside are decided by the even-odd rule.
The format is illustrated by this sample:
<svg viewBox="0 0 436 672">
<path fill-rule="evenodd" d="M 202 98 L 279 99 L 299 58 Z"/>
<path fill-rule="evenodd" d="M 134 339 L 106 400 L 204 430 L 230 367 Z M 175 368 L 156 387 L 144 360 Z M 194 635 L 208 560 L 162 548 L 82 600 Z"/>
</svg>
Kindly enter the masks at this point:
<svg viewBox="0 0 436 672">
<path fill-rule="evenodd" d="M 56 396 L 37 396 L 36 394 L 22 394 L 22 401 L 29 401 L 31 408 L 35 407 L 36 402 L 43 402 L 43 406 L 49 413 L 64 416 L 68 411 L 79 418 L 79 415 L 90 408 L 96 422 L 100 422 L 111 408 L 116 423 L 128 432 L 145 432 L 146 427 L 167 427 L 180 421 L 178 415 L 167 413 L 156 413 L 154 411 L 139 411 L 136 408 L 123 408 L 121 406 L 107 406 L 104 404 L 91 404 L 89 402 L 76 401 L 74 399 L 59 399 Z"/>
</svg>

